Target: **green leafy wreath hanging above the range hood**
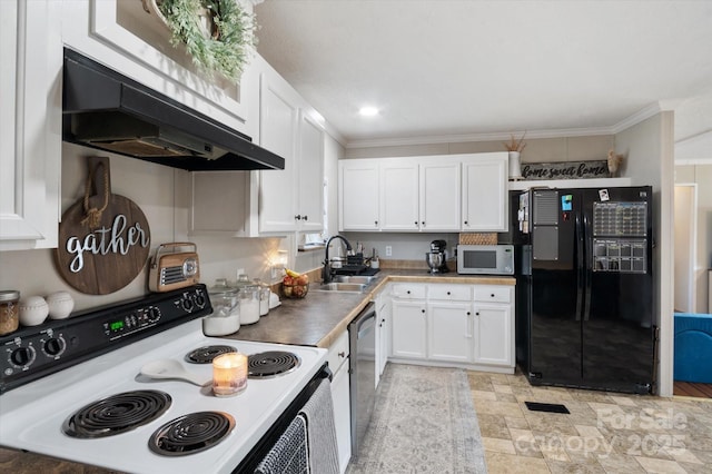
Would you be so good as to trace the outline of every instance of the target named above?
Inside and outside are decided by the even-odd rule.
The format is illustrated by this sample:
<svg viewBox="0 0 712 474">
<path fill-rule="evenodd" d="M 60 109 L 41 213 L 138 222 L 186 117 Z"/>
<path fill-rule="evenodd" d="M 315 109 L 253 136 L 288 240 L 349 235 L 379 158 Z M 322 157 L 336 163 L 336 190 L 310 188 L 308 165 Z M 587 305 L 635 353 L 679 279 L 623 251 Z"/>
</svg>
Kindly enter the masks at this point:
<svg viewBox="0 0 712 474">
<path fill-rule="evenodd" d="M 217 71 L 237 83 L 249 55 L 257 43 L 255 16 L 239 0 L 156 0 L 172 32 L 170 43 L 185 45 L 192 62 L 207 71 Z M 207 9 L 211 20 L 210 38 L 200 27 L 198 12 Z"/>
</svg>

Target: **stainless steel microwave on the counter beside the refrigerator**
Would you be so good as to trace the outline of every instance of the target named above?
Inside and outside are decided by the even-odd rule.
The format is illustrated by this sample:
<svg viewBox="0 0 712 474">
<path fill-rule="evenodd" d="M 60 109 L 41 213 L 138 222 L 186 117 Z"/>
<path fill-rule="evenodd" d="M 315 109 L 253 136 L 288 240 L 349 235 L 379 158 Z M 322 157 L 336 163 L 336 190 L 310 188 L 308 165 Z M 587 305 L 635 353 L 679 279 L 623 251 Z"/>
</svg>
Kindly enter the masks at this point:
<svg viewBox="0 0 712 474">
<path fill-rule="evenodd" d="M 464 275 L 514 275 L 514 246 L 458 245 L 457 273 Z"/>
</svg>

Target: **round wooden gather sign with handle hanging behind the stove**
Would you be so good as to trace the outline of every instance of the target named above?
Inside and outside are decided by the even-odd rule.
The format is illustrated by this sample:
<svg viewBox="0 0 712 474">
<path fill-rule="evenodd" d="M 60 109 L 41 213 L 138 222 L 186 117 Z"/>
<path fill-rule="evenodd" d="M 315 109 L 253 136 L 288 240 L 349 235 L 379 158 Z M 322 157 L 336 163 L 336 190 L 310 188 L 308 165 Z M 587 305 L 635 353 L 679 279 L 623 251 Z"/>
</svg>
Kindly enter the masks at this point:
<svg viewBox="0 0 712 474">
<path fill-rule="evenodd" d="M 131 283 L 144 269 L 150 229 L 141 209 L 111 194 L 109 158 L 89 157 L 85 197 L 62 215 L 57 267 L 81 293 L 107 295 Z"/>
</svg>

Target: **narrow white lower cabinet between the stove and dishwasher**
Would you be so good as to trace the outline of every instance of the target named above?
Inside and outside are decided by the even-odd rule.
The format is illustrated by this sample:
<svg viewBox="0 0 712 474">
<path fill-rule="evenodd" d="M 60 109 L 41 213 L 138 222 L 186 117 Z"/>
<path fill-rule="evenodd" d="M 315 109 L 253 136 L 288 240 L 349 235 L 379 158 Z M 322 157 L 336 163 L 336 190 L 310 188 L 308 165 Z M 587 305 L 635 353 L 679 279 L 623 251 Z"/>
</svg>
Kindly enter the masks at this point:
<svg viewBox="0 0 712 474">
<path fill-rule="evenodd" d="M 352 416 L 350 389 L 348 382 L 348 330 L 329 347 L 327 361 L 332 377 L 332 399 L 334 402 L 334 424 L 336 425 L 336 445 L 338 447 L 338 465 L 342 473 L 352 457 Z"/>
</svg>

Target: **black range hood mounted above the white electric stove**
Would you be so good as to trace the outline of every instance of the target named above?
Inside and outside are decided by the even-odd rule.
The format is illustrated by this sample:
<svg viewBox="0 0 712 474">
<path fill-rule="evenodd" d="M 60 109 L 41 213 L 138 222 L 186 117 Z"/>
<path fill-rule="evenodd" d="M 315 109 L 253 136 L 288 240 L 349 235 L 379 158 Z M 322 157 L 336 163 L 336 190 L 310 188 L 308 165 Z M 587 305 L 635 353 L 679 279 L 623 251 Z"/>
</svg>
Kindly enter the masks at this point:
<svg viewBox="0 0 712 474">
<path fill-rule="evenodd" d="M 188 171 L 284 169 L 251 138 L 65 48 L 62 137 Z"/>
</svg>

